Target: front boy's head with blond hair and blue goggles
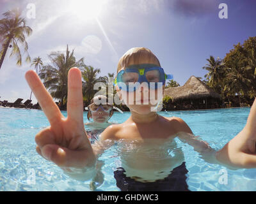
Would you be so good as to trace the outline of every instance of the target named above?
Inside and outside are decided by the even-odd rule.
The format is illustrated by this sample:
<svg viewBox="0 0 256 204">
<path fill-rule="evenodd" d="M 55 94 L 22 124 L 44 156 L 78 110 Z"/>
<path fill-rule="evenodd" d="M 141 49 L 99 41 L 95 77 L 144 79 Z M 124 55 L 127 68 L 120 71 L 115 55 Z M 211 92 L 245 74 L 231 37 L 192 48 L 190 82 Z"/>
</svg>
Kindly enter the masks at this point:
<svg viewBox="0 0 256 204">
<path fill-rule="evenodd" d="M 124 71 L 131 71 L 132 69 L 135 71 L 138 69 L 140 74 L 134 73 L 136 77 L 132 77 L 132 72 L 124 73 Z M 150 69 L 154 70 L 147 71 Z M 117 73 L 119 73 L 119 75 L 121 73 L 124 74 L 122 74 L 122 78 L 119 77 L 117 79 L 127 82 L 126 84 L 129 84 L 129 82 L 138 84 L 138 77 L 140 77 L 138 75 L 143 75 L 143 77 L 141 77 L 142 79 L 146 79 L 149 82 L 148 79 L 153 77 L 152 82 L 157 82 L 157 80 L 154 81 L 154 77 L 156 78 L 159 75 L 158 69 L 162 68 L 156 55 L 154 55 L 148 48 L 135 47 L 125 52 L 125 54 L 118 61 Z M 161 71 L 162 76 L 163 70 Z M 131 112 L 133 111 L 140 114 L 147 114 L 152 112 L 152 108 L 156 108 L 158 103 L 161 101 L 163 97 L 164 84 L 161 86 L 161 88 L 157 87 L 157 89 L 151 89 L 148 87 L 146 82 L 142 82 L 136 91 L 127 91 L 125 89 L 120 90 L 119 87 L 116 88 L 118 96 L 124 101 L 125 105 L 130 108 Z M 154 101 L 154 103 L 152 103 L 152 101 Z"/>
</svg>

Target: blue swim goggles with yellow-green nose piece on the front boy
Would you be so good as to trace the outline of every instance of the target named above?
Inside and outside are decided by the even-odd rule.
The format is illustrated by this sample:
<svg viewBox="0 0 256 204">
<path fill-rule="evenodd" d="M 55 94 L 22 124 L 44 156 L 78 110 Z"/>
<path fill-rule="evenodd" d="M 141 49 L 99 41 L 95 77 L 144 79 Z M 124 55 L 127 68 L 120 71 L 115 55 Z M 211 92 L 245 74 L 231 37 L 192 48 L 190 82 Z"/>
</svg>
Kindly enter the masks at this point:
<svg viewBox="0 0 256 204">
<path fill-rule="evenodd" d="M 136 91 L 142 82 L 146 82 L 150 89 L 159 89 L 166 80 L 171 79 L 173 75 L 166 75 L 164 69 L 155 64 L 134 64 L 118 72 L 114 85 L 132 92 Z"/>
</svg>

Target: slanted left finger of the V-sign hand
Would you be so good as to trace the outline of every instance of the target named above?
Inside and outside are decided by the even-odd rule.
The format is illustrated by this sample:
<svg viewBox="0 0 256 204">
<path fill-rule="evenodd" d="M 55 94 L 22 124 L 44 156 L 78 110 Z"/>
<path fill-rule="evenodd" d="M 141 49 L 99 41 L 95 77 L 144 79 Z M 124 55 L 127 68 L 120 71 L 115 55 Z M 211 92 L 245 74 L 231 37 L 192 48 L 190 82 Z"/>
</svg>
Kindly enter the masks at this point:
<svg viewBox="0 0 256 204">
<path fill-rule="evenodd" d="M 49 92 L 45 89 L 44 84 L 41 82 L 38 75 L 36 75 L 35 71 L 27 71 L 25 78 L 51 126 L 56 124 L 56 122 L 59 122 L 63 115 L 61 114 L 56 103 L 54 103 L 51 94 L 49 94 Z"/>
</svg>

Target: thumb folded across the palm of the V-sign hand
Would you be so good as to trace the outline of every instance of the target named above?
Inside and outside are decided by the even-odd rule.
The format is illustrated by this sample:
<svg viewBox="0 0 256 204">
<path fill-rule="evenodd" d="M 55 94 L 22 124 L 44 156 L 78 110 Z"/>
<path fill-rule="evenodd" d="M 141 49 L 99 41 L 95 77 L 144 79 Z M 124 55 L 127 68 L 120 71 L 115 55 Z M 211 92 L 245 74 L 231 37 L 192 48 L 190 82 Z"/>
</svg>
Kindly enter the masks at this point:
<svg viewBox="0 0 256 204">
<path fill-rule="evenodd" d="M 95 164 L 92 150 L 70 150 L 60 145 L 48 144 L 41 149 L 42 156 L 60 167 L 84 168 Z"/>
</svg>

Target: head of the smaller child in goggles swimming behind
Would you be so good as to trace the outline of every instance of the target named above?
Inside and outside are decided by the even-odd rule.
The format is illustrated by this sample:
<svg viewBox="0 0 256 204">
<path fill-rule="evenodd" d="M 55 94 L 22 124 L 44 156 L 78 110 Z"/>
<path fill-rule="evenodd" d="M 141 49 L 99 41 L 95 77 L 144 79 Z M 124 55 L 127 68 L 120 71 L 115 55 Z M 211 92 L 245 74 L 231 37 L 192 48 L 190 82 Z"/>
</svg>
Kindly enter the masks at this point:
<svg viewBox="0 0 256 204">
<path fill-rule="evenodd" d="M 94 122 L 108 122 L 113 115 L 113 105 L 107 103 L 108 98 L 103 95 L 95 96 L 88 106 L 87 119 Z"/>
</svg>

